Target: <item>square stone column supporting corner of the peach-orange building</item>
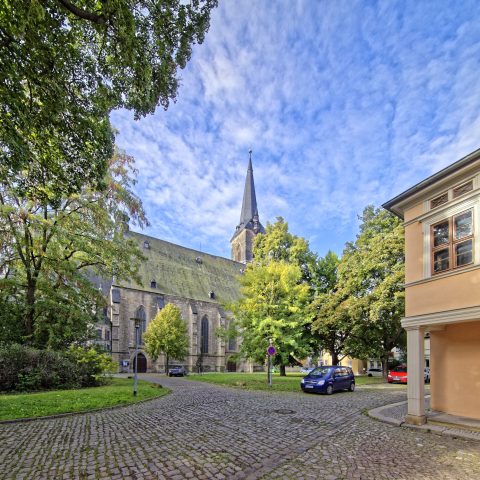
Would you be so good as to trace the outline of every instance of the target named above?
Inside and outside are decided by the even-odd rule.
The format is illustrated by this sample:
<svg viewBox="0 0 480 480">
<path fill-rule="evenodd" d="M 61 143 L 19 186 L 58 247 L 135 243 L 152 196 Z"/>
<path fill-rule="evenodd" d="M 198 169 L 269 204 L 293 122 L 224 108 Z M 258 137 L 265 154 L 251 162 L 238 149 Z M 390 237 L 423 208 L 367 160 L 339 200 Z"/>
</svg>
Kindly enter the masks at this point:
<svg viewBox="0 0 480 480">
<path fill-rule="evenodd" d="M 412 425 L 423 425 L 425 416 L 425 366 L 424 329 L 407 327 L 407 369 L 408 369 L 408 413 L 405 421 Z"/>
</svg>

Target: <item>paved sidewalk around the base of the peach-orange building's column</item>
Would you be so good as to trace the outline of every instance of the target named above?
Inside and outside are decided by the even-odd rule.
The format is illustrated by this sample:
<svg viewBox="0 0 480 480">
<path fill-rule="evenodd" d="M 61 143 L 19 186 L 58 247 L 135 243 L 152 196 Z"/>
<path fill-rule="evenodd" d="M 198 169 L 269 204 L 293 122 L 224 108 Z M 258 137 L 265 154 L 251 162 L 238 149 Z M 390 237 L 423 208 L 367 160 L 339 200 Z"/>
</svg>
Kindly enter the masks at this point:
<svg viewBox="0 0 480 480">
<path fill-rule="evenodd" d="M 368 415 L 381 422 L 390 423 L 397 427 L 415 428 L 436 435 L 465 438 L 480 441 L 480 421 L 442 412 L 430 410 L 430 396 L 425 397 L 425 411 L 427 423 L 425 425 L 410 425 L 405 423 L 407 402 L 398 402 L 368 411 Z"/>
</svg>

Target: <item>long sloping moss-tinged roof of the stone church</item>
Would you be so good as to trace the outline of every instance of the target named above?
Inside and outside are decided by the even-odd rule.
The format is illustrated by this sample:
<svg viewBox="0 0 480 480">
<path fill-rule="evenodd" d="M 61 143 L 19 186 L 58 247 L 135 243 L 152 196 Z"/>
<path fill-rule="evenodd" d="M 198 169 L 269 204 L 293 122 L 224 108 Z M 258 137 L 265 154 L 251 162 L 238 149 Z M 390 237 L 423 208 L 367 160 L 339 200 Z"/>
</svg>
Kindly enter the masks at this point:
<svg viewBox="0 0 480 480">
<path fill-rule="evenodd" d="M 122 281 L 118 286 L 209 302 L 230 302 L 239 297 L 237 277 L 245 268 L 242 263 L 137 232 L 127 235 L 138 242 L 147 260 L 139 269 L 142 285 Z"/>
</svg>

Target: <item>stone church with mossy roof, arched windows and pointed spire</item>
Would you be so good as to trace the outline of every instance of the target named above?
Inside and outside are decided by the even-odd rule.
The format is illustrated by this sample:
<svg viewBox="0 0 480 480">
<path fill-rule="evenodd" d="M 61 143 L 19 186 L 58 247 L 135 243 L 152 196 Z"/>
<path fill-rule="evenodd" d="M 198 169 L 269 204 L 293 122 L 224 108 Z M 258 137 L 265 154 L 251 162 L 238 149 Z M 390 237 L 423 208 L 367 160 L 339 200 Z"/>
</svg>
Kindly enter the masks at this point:
<svg viewBox="0 0 480 480">
<path fill-rule="evenodd" d="M 109 289 L 110 321 L 101 326 L 100 342 L 108 344 L 119 371 L 131 372 L 137 362 L 138 372 L 164 372 L 165 359 L 156 361 L 144 350 L 143 334 L 148 323 L 167 304 L 178 307 L 187 323 L 189 353 L 185 359 L 169 360 L 184 365 L 188 371 L 251 371 L 249 362 L 235 357 L 241 339 L 225 341 L 216 335 L 228 317 L 222 304 L 239 296 L 238 276 L 253 259 L 253 239 L 265 233 L 260 223 L 251 151 L 240 223 L 230 241 L 232 260 L 175 245 L 142 233 L 129 232 L 146 260 L 139 269 L 141 284 L 114 281 Z M 135 322 L 141 319 L 138 354 L 135 355 Z M 108 338 L 107 338 L 108 337 Z"/>
</svg>

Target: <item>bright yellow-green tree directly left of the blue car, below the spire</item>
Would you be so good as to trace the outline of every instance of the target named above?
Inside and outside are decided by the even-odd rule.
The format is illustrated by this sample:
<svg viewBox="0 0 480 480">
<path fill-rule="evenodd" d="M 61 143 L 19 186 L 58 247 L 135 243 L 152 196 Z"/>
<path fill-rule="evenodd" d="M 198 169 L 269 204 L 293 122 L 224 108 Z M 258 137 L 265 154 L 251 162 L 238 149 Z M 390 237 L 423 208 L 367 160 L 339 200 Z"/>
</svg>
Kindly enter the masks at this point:
<svg viewBox="0 0 480 480">
<path fill-rule="evenodd" d="M 309 286 L 298 265 L 270 260 L 250 264 L 240 277 L 241 298 L 230 305 L 242 337 L 242 354 L 258 363 L 265 360 L 269 339 L 277 354 L 274 364 L 285 375 L 285 366 L 310 352 L 305 315 Z"/>
</svg>

